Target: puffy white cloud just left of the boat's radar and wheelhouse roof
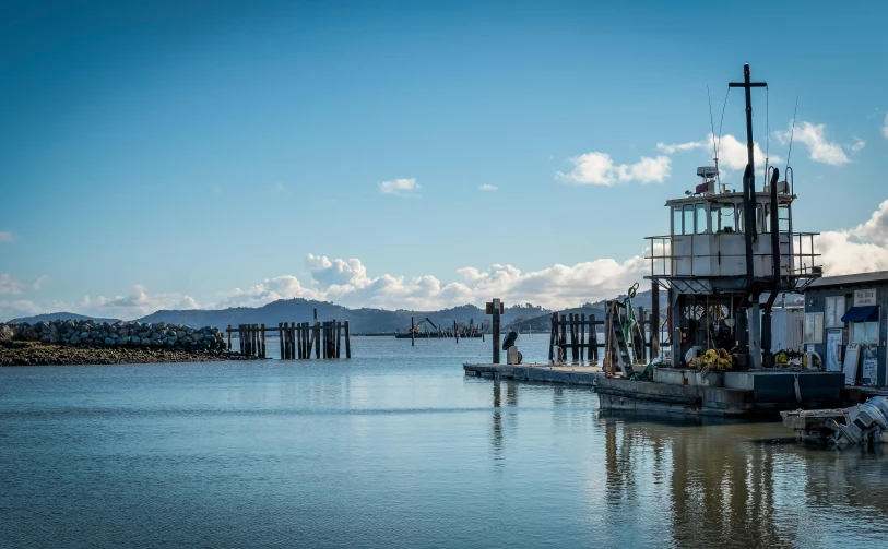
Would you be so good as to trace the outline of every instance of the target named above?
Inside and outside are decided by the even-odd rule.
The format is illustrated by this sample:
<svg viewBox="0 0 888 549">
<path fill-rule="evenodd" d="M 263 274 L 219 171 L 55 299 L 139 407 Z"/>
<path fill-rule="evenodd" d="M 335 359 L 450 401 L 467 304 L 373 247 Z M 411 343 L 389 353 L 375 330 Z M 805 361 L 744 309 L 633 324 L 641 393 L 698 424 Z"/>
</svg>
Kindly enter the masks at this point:
<svg viewBox="0 0 888 549">
<path fill-rule="evenodd" d="M 570 158 L 573 169 L 564 174 L 558 171 L 555 177 L 576 184 L 604 184 L 611 186 L 628 181 L 641 183 L 662 183 L 670 177 L 671 160 L 668 156 L 650 158 L 642 156 L 635 164 L 615 165 L 607 153 L 587 153 Z"/>
</svg>

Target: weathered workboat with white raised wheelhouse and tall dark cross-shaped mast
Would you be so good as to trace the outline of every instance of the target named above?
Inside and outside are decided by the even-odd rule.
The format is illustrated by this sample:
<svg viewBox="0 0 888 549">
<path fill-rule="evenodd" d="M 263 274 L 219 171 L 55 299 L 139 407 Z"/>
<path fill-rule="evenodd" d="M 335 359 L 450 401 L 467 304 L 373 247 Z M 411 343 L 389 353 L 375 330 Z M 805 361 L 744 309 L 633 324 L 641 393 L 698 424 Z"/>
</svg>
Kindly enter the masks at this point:
<svg viewBox="0 0 888 549">
<path fill-rule="evenodd" d="M 672 367 L 632 372 L 617 348 L 605 350 L 605 378 L 595 392 L 604 409 L 651 409 L 715 416 L 774 415 L 782 409 L 824 408 L 848 401 L 841 372 L 775 368 L 771 308 L 779 294 L 802 291 L 818 278 L 814 232 L 794 230 L 793 172 L 766 166 L 770 180 L 756 189 L 753 143 L 754 87 L 744 82 L 748 164 L 739 190 L 700 167 L 691 192 L 666 201 L 671 230 L 650 240 L 654 301 L 668 295 Z M 618 314 L 618 311 L 614 311 Z M 654 332 L 652 330 L 652 332 Z M 619 337 L 611 337 L 611 342 Z M 609 345 L 609 344 L 608 344 Z M 618 371 L 619 370 L 619 371 Z"/>
</svg>

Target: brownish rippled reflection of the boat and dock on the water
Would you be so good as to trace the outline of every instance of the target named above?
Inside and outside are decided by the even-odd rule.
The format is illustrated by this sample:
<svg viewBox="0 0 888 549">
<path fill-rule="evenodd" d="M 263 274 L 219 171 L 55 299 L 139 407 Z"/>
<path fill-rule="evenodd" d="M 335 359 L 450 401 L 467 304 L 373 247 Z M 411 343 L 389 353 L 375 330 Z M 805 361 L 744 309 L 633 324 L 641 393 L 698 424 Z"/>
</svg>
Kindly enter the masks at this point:
<svg viewBox="0 0 888 549">
<path fill-rule="evenodd" d="M 601 414 L 600 421 L 606 512 L 616 516 L 627 502 L 635 509 L 639 500 L 658 499 L 656 492 L 665 490 L 671 523 L 663 526 L 676 547 L 831 545 L 853 536 L 854 524 L 871 523 L 862 515 L 851 528 L 843 522 L 841 533 L 806 527 L 818 522 L 818 508 L 834 512 L 837 505 L 875 505 L 880 515 L 888 510 L 888 496 L 875 489 L 888 473 L 881 460 L 772 438 L 785 434 L 779 425 L 613 414 Z M 857 462 L 868 462 L 871 470 Z M 874 532 L 866 526 L 857 534 L 868 538 Z"/>
</svg>

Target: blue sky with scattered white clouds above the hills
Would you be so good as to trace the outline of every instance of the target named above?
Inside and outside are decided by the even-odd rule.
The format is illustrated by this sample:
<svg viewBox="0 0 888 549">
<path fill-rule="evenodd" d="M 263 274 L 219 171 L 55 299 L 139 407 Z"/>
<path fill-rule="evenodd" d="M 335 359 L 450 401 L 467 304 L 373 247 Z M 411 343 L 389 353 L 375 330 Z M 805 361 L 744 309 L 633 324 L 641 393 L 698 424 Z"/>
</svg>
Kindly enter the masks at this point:
<svg viewBox="0 0 888 549">
<path fill-rule="evenodd" d="M 888 270 L 888 4 L 0 2 L 0 321 L 559 308 L 646 274 L 720 138 Z M 797 111 L 795 110 L 797 100 Z M 712 116 L 710 117 L 710 109 Z M 722 118 L 722 112 L 724 112 Z M 790 152 L 789 133 L 795 112 Z"/>
</svg>

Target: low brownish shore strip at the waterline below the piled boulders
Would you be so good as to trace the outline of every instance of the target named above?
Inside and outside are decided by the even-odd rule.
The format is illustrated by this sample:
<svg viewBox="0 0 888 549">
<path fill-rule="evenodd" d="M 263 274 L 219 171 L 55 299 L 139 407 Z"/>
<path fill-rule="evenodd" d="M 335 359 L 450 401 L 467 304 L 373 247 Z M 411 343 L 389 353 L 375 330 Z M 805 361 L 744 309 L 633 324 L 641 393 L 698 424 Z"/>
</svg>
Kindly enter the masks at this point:
<svg viewBox="0 0 888 549">
<path fill-rule="evenodd" d="M 256 358 L 224 349 L 72 347 L 32 342 L 0 344 L 0 367 L 221 362 L 226 360 L 256 360 Z"/>
</svg>

